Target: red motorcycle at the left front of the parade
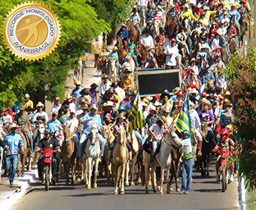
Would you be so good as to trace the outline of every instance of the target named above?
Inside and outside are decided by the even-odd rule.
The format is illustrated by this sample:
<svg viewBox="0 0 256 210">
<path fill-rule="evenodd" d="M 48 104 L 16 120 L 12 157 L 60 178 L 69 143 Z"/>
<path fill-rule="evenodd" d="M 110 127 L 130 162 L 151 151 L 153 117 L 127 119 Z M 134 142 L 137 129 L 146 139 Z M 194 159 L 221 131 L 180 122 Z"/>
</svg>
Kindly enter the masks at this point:
<svg viewBox="0 0 256 210">
<path fill-rule="evenodd" d="M 52 175 L 52 168 L 53 168 L 53 152 L 56 152 L 55 150 L 52 150 L 51 148 L 44 148 L 44 151 L 42 153 L 44 154 L 44 158 L 41 162 L 42 169 L 43 169 L 43 181 L 45 183 L 45 190 L 49 190 L 49 185 L 52 181 L 53 175 Z"/>
</svg>

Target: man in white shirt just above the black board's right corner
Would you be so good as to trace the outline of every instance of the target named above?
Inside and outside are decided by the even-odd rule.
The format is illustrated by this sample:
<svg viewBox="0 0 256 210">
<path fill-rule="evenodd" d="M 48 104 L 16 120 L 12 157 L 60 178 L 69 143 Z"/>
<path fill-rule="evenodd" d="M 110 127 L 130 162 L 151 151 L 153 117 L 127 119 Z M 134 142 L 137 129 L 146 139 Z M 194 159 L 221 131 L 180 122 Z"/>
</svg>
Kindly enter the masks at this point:
<svg viewBox="0 0 256 210">
<path fill-rule="evenodd" d="M 163 52 L 166 55 L 166 69 L 181 69 L 180 60 L 178 58 L 178 48 L 175 46 L 175 43 L 175 38 L 172 38 L 172 40 L 166 46 L 166 50 Z"/>
</svg>

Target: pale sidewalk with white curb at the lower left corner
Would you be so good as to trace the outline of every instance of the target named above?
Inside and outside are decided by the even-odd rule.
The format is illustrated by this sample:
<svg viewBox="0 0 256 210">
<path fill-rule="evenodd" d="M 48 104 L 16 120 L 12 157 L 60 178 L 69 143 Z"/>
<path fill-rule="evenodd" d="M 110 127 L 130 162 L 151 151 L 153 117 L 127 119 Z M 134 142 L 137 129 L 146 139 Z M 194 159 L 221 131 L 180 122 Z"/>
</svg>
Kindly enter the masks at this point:
<svg viewBox="0 0 256 210">
<path fill-rule="evenodd" d="M 4 170 L 2 170 L 3 174 Z M 24 193 L 26 193 L 26 189 L 29 187 L 29 184 L 38 177 L 38 170 L 32 169 L 30 171 L 25 170 L 24 177 L 14 178 L 14 185 L 9 184 L 9 180 L 7 177 L 2 177 L 0 184 L 0 209 L 7 210 L 11 208 L 11 205 L 20 199 Z"/>
</svg>

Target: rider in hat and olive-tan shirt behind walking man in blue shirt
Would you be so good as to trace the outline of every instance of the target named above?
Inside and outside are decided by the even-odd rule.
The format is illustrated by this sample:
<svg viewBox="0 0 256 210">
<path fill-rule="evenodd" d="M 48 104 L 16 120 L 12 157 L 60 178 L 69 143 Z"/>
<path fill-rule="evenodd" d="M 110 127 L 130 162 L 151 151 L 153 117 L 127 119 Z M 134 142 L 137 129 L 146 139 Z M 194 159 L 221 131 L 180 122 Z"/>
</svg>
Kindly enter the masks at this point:
<svg viewBox="0 0 256 210">
<path fill-rule="evenodd" d="M 20 112 L 15 115 L 14 121 L 21 127 L 24 133 L 26 133 L 26 136 L 29 138 L 29 145 L 31 148 L 31 152 L 33 154 L 34 147 L 33 147 L 33 139 L 31 132 L 29 130 L 29 115 L 25 112 L 26 107 L 21 105 Z"/>
</svg>

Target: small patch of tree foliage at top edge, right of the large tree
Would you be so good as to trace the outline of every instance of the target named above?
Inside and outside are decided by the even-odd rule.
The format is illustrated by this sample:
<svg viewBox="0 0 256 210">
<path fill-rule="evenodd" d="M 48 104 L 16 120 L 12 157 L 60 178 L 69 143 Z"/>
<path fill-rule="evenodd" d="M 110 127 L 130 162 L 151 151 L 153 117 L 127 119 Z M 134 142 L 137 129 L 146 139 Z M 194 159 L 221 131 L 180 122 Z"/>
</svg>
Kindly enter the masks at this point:
<svg viewBox="0 0 256 210">
<path fill-rule="evenodd" d="M 134 3 L 130 0 L 93 0 L 90 5 L 95 7 L 100 19 L 115 27 L 129 17 Z"/>
</svg>

